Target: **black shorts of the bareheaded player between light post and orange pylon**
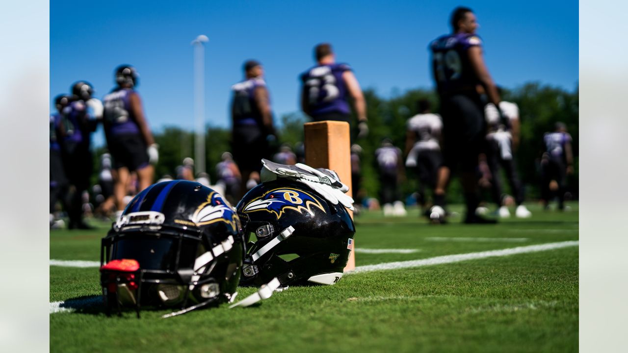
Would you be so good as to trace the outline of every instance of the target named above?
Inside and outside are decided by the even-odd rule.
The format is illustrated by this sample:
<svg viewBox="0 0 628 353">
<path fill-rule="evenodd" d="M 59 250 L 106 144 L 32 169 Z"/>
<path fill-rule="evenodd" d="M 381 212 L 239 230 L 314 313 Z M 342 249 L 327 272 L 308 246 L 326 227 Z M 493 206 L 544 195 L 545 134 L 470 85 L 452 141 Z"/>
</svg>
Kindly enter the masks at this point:
<svg viewBox="0 0 628 353">
<path fill-rule="evenodd" d="M 271 159 L 266 134 L 257 125 L 236 125 L 232 134 L 234 160 L 242 171 L 261 171 L 262 158 Z M 248 178 L 248 175 L 242 175 Z"/>
</svg>

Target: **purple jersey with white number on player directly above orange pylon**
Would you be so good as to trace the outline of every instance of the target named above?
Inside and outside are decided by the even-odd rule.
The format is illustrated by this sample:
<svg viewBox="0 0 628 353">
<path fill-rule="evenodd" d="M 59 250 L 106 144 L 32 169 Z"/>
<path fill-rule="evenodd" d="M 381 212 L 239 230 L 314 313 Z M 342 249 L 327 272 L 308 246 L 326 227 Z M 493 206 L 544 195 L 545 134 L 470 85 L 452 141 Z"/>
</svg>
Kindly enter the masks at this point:
<svg viewBox="0 0 628 353">
<path fill-rule="evenodd" d="M 301 74 L 301 82 L 311 114 L 350 114 L 347 103 L 347 85 L 342 79 L 345 71 L 351 71 L 345 63 L 320 65 Z"/>
</svg>

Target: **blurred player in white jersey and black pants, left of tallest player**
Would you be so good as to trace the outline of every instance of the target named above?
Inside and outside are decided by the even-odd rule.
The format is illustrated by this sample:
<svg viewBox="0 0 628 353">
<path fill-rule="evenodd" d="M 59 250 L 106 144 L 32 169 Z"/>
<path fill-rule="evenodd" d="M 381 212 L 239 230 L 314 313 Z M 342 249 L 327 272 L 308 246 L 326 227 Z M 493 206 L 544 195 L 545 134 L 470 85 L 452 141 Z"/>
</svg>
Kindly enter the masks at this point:
<svg viewBox="0 0 628 353">
<path fill-rule="evenodd" d="M 417 102 L 419 114 L 408 119 L 406 132 L 406 167 L 415 168 L 419 177 L 419 190 L 416 201 L 421 206 L 421 214 L 429 209 L 426 188 L 433 192 L 436 187 L 436 174 L 442 163 L 440 151 L 443 122 L 440 115 L 432 114 L 427 99 Z"/>
</svg>

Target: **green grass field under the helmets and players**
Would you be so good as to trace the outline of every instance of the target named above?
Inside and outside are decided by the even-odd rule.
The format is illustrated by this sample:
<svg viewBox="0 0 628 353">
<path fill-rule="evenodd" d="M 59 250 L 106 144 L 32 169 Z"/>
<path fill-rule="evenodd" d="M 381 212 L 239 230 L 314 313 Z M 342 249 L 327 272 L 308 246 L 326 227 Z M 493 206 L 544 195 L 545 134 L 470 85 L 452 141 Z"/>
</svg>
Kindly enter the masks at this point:
<svg viewBox="0 0 628 353">
<path fill-rule="evenodd" d="M 578 204 L 532 205 L 531 219 L 430 225 L 409 210 L 357 219 L 357 266 L 578 240 Z M 453 210 L 460 210 L 452 207 Z M 94 231 L 50 232 L 50 259 L 99 260 Z M 444 239 L 443 239 L 444 238 Z M 464 238 L 464 239 L 460 239 Z M 485 239 L 492 238 L 492 239 Z M 239 299 L 253 293 L 239 288 Z M 291 287 L 261 305 L 226 305 L 162 319 L 108 318 L 98 268 L 50 266 L 50 301 L 88 300 L 50 314 L 52 352 L 573 352 L 578 350 L 578 246 L 404 269 L 345 274 L 334 286 Z"/>
</svg>

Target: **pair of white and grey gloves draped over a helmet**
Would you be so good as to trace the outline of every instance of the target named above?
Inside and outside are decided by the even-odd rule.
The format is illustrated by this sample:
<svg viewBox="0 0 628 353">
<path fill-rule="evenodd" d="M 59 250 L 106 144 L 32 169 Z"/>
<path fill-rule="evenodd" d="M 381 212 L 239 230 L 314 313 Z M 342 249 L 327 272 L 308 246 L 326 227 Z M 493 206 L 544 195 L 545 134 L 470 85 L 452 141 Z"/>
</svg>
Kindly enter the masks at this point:
<svg viewBox="0 0 628 353">
<path fill-rule="evenodd" d="M 349 187 L 340 182 L 340 178 L 335 171 L 326 168 L 315 169 L 303 163 L 283 165 L 264 159 L 262 163 L 264 163 L 261 171 L 262 182 L 271 182 L 277 180 L 277 178 L 288 178 L 307 185 L 334 205 L 340 202 L 347 209 L 354 210 L 353 198 L 345 194 L 345 192 L 349 191 Z"/>
</svg>

